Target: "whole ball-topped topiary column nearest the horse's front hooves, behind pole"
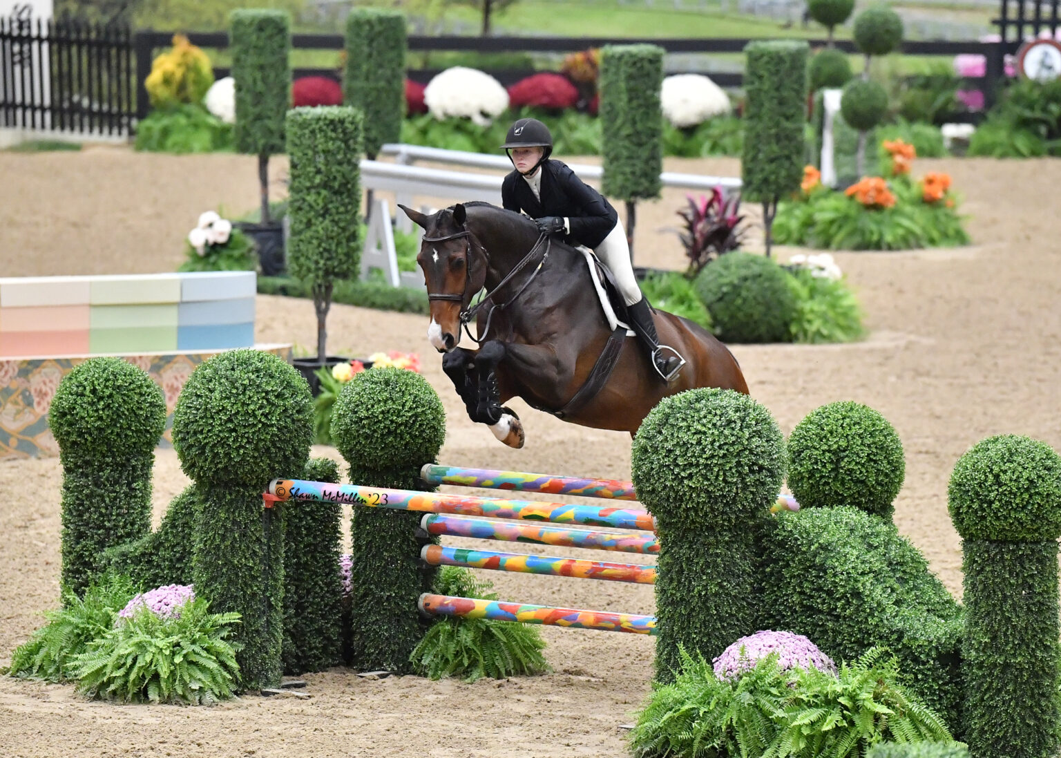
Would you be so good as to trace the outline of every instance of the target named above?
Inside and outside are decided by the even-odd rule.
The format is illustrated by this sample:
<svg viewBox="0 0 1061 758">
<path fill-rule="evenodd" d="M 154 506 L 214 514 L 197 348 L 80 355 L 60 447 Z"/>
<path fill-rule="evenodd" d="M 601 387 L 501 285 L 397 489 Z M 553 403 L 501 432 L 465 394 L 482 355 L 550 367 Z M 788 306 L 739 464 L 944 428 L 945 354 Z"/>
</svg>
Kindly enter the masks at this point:
<svg viewBox="0 0 1061 758">
<path fill-rule="evenodd" d="M 350 465 L 350 482 L 431 492 L 420 468 L 437 460 L 446 437 L 438 395 L 419 374 L 372 368 L 349 381 L 335 400 L 332 437 Z M 434 569 L 420 561 L 428 538 L 420 514 L 355 506 L 351 527 L 353 599 L 351 665 L 362 671 L 412 671 L 410 654 L 423 636 L 417 600 Z"/>
</svg>

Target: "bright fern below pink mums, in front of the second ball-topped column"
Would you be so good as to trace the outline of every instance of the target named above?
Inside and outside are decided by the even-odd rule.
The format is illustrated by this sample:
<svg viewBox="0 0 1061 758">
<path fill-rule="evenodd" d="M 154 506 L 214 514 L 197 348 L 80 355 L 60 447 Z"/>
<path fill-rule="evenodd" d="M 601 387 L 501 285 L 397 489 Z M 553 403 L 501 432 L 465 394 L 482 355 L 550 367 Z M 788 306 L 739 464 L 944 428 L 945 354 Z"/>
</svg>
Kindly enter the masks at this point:
<svg viewBox="0 0 1061 758">
<path fill-rule="evenodd" d="M 231 697 L 240 645 L 228 635 L 239 619 L 208 613 L 203 598 L 189 601 L 179 617 L 141 608 L 73 656 L 77 689 L 125 703 L 208 705 Z"/>
</svg>

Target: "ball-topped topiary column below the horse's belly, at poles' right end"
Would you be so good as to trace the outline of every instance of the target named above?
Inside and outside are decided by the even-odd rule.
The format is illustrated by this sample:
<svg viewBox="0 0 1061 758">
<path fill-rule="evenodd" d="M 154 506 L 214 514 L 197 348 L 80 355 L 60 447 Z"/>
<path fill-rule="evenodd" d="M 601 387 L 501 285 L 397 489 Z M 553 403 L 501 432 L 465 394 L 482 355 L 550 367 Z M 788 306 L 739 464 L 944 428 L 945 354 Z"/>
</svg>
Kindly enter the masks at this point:
<svg viewBox="0 0 1061 758">
<path fill-rule="evenodd" d="M 633 485 L 657 521 L 656 678 L 679 645 L 709 660 L 760 628 L 756 542 L 785 476 L 784 437 L 732 390 L 664 398 L 633 438 Z"/>
</svg>

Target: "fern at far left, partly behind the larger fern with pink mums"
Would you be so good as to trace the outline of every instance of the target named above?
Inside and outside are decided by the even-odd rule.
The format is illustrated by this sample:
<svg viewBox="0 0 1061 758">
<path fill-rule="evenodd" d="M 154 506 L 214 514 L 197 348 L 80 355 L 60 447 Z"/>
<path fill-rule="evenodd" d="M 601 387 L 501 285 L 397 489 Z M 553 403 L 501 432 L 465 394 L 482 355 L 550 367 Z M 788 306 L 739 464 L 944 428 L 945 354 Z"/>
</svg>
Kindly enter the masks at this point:
<svg viewBox="0 0 1061 758">
<path fill-rule="evenodd" d="M 15 649 L 7 673 L 46 682 L 75 678 L 74 657 L 114 627 L 119 611 L 136 593 L 133 581 L 116 573 L 90 586 L 84 598 L 65 593 L 63 607 L 45 614 L 48 625 Z"/>
</svg>

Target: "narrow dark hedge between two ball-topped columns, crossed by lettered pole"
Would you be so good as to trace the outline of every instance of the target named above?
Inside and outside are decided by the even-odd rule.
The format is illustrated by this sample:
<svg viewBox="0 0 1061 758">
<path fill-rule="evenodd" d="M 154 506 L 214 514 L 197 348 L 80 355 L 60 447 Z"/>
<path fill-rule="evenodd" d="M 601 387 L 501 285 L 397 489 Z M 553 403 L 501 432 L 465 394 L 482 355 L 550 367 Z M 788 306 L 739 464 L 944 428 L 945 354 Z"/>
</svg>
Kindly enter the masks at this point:
<svg viewBox="0 0 1061 758">
<path fill-rule="evenodd" d="M 301 478 L 337 484 L 338 466 L 327 458 L 310 459 Z M 283 671 L 324 671 L 338 664 L 342 653 L 338 559 L 343 506 L 296 502 L 285 510 Z"/>
</svg>

